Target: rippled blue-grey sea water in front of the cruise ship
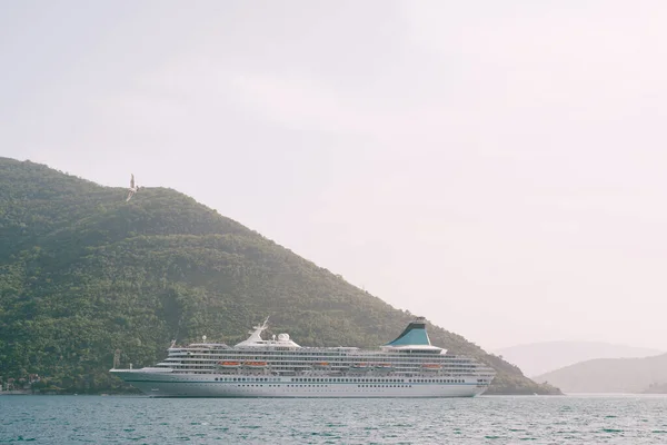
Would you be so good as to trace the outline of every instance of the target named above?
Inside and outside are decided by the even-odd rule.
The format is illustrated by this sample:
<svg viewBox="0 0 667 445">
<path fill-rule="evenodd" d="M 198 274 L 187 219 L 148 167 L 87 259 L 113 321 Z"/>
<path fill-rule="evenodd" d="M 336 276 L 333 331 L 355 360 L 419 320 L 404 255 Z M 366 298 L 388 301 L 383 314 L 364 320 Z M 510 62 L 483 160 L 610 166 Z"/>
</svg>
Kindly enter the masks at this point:
<svg viewBox="0 0 667 445">
<path fill-rule="evenodd" d="M 0 443 L 667 444 L 667 396 L 0 396 Z"/>
</svg>

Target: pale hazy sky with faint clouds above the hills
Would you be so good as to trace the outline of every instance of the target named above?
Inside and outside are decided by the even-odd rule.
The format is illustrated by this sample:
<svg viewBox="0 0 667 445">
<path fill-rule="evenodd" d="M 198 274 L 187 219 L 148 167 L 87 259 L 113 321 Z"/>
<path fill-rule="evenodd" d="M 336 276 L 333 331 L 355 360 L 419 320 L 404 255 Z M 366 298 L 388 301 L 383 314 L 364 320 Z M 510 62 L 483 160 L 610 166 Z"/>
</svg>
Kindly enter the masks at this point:
<svg viewBox="0 0 667 445">
<path fill-rule="evenodd" d="M 665 349 L 665 23 L 661 0 L 0 0 L 0 156 L 176 188 L 487 349 Z"/>
</svg>

